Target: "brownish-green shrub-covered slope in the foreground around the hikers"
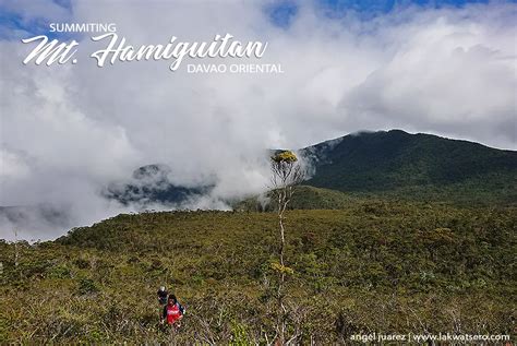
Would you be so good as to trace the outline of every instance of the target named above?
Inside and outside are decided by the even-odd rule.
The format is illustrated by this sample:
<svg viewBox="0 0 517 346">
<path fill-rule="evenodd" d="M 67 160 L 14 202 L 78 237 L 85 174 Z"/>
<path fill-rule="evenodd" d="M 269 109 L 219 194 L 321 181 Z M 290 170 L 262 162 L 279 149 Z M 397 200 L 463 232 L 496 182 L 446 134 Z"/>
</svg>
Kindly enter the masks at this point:
<svg viewBox="0 0 517 346">
<path fill-rule="evenodd" d="M 300 343 L 353 333 L 508 334 L 516 208 L 363 201 L 287 214 L 287 301 Z M 0 242 L 4 343 L 266 343 L 274 334 L 273 213 L 119 215 L 55 242 Z M 188 312 L 157 326 L 158 286 Z"/>
</svg>

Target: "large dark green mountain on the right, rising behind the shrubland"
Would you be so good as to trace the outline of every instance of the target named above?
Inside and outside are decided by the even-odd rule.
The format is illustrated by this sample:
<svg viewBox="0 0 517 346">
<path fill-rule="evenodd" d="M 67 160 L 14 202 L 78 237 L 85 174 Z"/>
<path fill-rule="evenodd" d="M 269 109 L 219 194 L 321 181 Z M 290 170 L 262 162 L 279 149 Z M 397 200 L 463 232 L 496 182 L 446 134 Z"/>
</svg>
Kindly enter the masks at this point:
<svg viewBox="0 0 517 346">
<path fill-rule="evenodd" d="M 515 203 L 517 152 L 400 130 L 349 134 L 301 150 L 306 184 L 405 199 Z"/>
</svg>

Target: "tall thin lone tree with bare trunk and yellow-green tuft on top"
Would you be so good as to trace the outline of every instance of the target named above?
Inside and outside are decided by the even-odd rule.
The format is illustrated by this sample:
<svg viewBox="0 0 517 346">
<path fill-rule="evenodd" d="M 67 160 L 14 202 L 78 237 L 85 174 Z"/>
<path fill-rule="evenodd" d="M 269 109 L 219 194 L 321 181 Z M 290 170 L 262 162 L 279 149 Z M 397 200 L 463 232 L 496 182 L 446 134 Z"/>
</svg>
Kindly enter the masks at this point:
<svg viewBox="0 0 517 346">
<path fill-rule="evenodd" d="M 276 203 L 278 203 L 276 212 L 278 214 L 279 226 L 279 263 L 273 264 L 273 269 L 278 273 L 277 336 L 278 342 L 284 344 L 287 318 L 287 309 L 284 305 L 284 284 L 286 282 L 286 275 L 293 273 L 292 269 L 286 266 L 284 262 L 284 253 L 286 249 L 286 229 L 284 227 L 284 219 L 287 205 L 292 199 L 296 186 L 303 181 L 304 171 L 297 155 L 291 151 L 284 151 L 273 155 L 270 157 L 270 165 L 273 172 L 272 189 Z"/>
</svg>

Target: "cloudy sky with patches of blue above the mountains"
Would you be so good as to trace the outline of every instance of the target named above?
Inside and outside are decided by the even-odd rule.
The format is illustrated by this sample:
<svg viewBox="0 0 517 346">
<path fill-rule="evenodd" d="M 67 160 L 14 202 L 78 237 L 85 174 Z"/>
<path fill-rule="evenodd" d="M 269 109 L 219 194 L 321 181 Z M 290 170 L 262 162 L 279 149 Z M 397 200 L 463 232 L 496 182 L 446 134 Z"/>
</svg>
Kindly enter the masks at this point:
<svg viewBox="0 0 517 346">
<path fill-rule="evenodd" d="M 103 198 L 143 165 L 177 184 L 215 184 L 187 207 L 267 188 L 264 150 L 402 129 L 516 150 L 515 1 L 0 0 L 0 205 L 50 205 L 22 238 L 48 239 L 139 205 Z M 116 23 L 133 45 L 267 41 L 282 74 L 189 74 L 166 61 L 97 68 L 92 34 L 49 23 Z M 77 64 L 24 65 L 22 38 L 80 41 Z M 156 208 L 167 206 L 156 205 Z M 45 217 L 44 217 L 45 218 Z M 0 218 L 0 238 L 13 225 Z"/>
</svg>

